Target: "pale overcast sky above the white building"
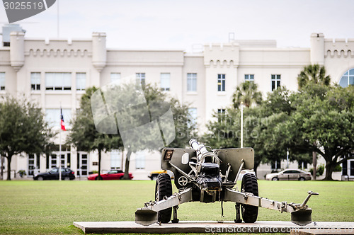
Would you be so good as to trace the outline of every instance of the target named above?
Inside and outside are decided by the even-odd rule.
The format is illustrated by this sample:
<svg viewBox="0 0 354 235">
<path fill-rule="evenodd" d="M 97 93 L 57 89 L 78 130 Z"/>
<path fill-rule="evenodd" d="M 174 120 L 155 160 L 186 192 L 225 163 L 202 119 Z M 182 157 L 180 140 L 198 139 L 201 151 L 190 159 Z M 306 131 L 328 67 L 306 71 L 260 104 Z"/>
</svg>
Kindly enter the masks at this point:
<svg viewBox="0 0 354 235">
<path fill-rule="evenodd" d="M 353 0 L 57 0 L 47 11 L 18 21 L 28 38 L 91 38 L 107 34 L 118 49 L 192 48 L 211 42 L 276 40 L 278 47 L 309 47 L 311 33 L 354 38 Z M 0 6 L 0 26 L 8 23 Z"/>
</svg>

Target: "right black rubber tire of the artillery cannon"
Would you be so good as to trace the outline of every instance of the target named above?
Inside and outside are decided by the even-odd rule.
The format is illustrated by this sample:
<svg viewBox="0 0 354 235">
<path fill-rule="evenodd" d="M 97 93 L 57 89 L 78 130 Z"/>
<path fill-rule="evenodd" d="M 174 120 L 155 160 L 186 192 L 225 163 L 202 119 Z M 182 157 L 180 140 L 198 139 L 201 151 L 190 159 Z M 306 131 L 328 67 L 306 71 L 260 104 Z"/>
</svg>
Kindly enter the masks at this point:
<svg viewBox="0 0 354 235">
<path fill-rule="evenodd" d="M 241 183 L 242 193 L 253 193 L 258 196 L 257 177 L 251 173 L 247 173 L 242 178 Z M 241 204 L 242 219 L 245 223 L 254 223 L 258 217 L 258 207 Z"/>
</svg>

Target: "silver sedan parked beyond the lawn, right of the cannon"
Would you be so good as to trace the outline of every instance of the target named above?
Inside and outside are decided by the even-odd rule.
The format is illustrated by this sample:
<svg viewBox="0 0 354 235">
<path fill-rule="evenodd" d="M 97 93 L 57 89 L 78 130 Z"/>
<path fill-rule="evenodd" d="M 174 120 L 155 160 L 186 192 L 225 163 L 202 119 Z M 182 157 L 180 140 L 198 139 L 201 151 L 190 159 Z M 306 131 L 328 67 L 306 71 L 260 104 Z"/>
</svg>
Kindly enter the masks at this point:
<svg viewBox="0 0 354 235">
<path fill-rule="evenodd" d="M 270 173 L 265 176 L 266 180 L 311 180 L 311 174 L 297 169 L 285 169 L 279 173 Z"/>
</svg>

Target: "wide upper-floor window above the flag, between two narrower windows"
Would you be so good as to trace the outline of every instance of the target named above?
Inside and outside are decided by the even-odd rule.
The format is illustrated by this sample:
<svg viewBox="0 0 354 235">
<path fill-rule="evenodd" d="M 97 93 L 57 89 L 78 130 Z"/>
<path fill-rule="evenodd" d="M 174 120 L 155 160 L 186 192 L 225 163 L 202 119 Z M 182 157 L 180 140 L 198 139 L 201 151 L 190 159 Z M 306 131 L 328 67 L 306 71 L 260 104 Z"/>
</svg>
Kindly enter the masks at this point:
<svg viewBox="0 0 354 235">
<path fill-rule="evenodd" d="M 46 90 L 71 90 L 72 73 L 45 73 Z"/>
</svg>

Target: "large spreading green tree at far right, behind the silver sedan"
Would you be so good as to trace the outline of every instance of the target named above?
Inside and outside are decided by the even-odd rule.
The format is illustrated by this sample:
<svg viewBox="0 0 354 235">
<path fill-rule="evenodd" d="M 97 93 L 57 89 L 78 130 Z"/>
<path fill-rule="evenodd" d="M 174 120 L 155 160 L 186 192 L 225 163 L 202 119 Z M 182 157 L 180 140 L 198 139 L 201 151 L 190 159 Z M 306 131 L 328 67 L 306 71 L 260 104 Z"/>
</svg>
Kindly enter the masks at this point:
<svg viewBox="0 0 354 235">
<path fill-rule="evenodd" d="M 321 96 L 314 96 L 325 91 Z M 325 180 L 333 169 L 349 159 L 354 146 L 354 88 L 349 86 L 306 86 L 295 94 L 295 111 L 275 129 L 275 141 L 293 151 L 315 151 L 326 160 Z"/>
</svg>

